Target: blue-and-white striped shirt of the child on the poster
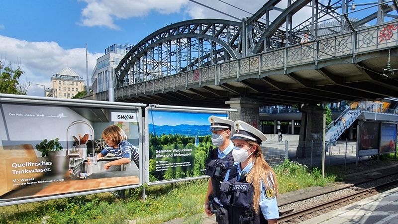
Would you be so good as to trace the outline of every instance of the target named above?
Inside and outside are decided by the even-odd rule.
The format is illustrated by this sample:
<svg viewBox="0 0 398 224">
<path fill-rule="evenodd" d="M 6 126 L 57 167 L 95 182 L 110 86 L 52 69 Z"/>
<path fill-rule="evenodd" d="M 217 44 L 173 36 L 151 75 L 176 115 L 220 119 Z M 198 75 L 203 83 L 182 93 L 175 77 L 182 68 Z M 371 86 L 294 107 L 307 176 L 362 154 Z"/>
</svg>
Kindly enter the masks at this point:
<svg viewBox="0 0 398 224">
<path fill-rule="evenodd" d="M 131 159 L 132 161 L 134 161 L 135 165 L 137 165 L 138 169 L 140 168 L 140 157 L 138 148 L 132 145 L 127 140 L 122 140 L 117 145 L 117 148 L 105 147 L 104 149 L 102 149 L 101 154 L 103 156 L 106 156 L 109 152 L 113 153 L 116 157 Z"/>
</svg>

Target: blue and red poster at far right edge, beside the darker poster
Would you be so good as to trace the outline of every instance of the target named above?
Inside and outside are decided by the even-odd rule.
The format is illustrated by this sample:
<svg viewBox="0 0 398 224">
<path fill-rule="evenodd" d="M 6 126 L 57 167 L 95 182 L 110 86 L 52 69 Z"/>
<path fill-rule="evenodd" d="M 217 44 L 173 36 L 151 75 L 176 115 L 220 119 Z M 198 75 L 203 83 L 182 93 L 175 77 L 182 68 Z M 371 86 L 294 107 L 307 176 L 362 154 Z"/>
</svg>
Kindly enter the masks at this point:
<svg viewBox="0 0 398 224">
<path fill-rule="evenodd" d="M 397 151 L 397 123 L 381 123 L 380 154 Z"/>
</svg>

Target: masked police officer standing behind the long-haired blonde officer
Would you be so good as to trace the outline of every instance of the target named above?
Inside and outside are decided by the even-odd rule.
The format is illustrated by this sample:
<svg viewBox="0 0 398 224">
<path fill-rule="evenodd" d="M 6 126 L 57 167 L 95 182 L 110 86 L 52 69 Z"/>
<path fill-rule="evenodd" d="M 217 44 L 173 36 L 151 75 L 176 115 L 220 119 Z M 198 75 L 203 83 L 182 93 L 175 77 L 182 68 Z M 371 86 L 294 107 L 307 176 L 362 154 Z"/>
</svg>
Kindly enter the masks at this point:
<svg viewBox="0 0 398 224">
<path fill-rule="evenodd" d="M 233 166 L 233 144 L 229 137 L 233 121 L 217 116 L 209 116 L 211 142 L 217 146 L 208 153 L 206 160 L 206 175 L 210 176 L 204 201 L 204 212 L 211 216 L 220 208 L 220 185 L 227 170 Z"/>
</svg>

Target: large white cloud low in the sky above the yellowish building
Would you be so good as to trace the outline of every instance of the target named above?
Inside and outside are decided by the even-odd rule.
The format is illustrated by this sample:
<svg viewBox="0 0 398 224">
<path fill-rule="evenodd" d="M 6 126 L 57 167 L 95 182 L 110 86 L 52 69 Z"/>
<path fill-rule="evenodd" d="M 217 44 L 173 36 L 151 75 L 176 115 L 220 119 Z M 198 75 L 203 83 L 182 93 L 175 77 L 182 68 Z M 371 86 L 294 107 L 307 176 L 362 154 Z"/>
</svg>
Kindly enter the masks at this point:
<svg viewBox="0 0 398 224">
<path fill-rule="evenodd" d="M 96 60 L 103 54 L 88 53 L 89 79 Z M 51 77 L 65 67 L 71 68 L 86 81 L 86 48 L 64 49 L 56 42 L 29 42 L 0 35 L 0 60 L 5 65 L 20 66 L 20 81 L 51 87 Z M 85 82 L 86 83 L 86 82 Z M 90 83 L 91 84 L 91 83 Z M 28 95 L 43 96 L 43 87 L 31 85 Z"/>
</svg>

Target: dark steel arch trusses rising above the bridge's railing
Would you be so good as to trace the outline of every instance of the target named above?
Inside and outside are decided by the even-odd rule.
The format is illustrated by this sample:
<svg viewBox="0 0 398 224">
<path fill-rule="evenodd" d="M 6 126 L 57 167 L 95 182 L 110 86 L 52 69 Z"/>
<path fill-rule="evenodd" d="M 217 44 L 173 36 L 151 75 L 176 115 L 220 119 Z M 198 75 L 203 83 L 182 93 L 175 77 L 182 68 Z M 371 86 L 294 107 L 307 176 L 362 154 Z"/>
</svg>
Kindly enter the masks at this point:
<svg viewBox="0 0 398 224">
<path fill-rule="evenodd" d="M 327 4 L 318 0 L 288 0 L 285 8 L 279 6 L 281 2 L 268 0 L 256 13 L 241 22 L 195 19 L 153 32 L 136 44 L 116 67 L 116 87 L 197 71 L 202 67 L 302 41 L 350 33 L 372 20 L 383 23 L 386 16 L 397 19 L 397 0 L 374 2 L 377 9 L 363 18 L 349 18 L 348 8 L 354 3 L 353 0 L 329 0 Z M 295 14 L 304 7 L 308 7 L 311 14 L 293 26 Z M 389 14 L 391 12 L 395 14 Z M 277 16 L 271 21 L 272 13 Z"/>
</svg>

